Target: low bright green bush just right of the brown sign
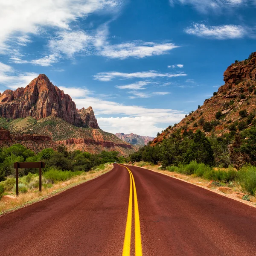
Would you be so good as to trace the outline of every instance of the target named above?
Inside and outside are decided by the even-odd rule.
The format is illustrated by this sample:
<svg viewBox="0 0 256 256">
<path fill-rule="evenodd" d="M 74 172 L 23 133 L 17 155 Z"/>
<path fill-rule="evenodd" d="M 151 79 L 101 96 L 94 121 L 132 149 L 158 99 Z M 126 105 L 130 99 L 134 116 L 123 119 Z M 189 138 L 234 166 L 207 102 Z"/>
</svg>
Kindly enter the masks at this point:
<svg viewBox="0 0 256 256">
<path fill-rule="evenodd" d="M 81 171 L 60 171 L 54 168 L 50 168 L 47 172 L 44 172 L 43 176 L 50 183 L 55 183 L 56 181 L 70 180 L 72 177 L 76 175 L 81 175 L 82 173 L 83 172 Z"/>
</svg>

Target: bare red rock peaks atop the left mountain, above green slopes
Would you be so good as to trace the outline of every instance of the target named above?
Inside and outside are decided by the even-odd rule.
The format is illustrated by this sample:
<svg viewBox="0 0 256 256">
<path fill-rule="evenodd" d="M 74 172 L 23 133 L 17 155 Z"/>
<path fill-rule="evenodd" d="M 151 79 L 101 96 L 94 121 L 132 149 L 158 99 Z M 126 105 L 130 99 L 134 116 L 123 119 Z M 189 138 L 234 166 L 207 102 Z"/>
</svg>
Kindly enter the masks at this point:
<svg viewBox="0 0 256 256">
<path fill-rule="evenodd" d="M 44 74 L 32 80 L 26 88 L 6 90 L 0 94 L 0 116 L 17 119 L 32 116 L 35 119 L 47 116 L 60 117 L 76 126 L 99 128 L 92 108 L 76 110 L 76 104 L 68 94 L 54 86 Z M 92 125 L 92 126 L 90 126 Z"/>
</svg>

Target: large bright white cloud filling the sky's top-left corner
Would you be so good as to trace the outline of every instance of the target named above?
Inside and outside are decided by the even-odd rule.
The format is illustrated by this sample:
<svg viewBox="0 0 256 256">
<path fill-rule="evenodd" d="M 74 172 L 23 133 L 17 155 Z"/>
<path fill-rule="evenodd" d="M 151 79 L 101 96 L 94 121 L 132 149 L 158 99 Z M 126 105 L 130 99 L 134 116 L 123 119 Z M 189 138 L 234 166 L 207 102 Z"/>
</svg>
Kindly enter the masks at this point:
<svg viewBox="0 0 256 256">
<path fill-rule="evenodd" d="M 0 49 L 8 49 L 6 41 L 13 37 L 26 44 L 30 33 L 40 34 L 45 27 L 70 29 L 79 17 L 99 10 L 118 12 L 119 5 L 119 0 L 1 0 Z"/>
</svg>

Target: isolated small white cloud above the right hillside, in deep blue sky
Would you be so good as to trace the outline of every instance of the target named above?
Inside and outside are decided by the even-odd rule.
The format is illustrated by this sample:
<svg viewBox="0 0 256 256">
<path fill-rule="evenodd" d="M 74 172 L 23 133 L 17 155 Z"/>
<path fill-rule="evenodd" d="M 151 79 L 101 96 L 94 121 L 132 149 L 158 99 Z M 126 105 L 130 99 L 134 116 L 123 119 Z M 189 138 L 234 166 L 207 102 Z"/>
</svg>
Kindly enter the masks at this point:
<svg viewBox="0 0 256 256">
<path fill-rule="evenodd" d="M 185 32 L 190 35 L 219 40 L 243 38 L 247 34 L 246 29 L 242 26 L 207 26 L 199 23 L 195 23 L 192 27 L 185 29 Z"/>
</svg>

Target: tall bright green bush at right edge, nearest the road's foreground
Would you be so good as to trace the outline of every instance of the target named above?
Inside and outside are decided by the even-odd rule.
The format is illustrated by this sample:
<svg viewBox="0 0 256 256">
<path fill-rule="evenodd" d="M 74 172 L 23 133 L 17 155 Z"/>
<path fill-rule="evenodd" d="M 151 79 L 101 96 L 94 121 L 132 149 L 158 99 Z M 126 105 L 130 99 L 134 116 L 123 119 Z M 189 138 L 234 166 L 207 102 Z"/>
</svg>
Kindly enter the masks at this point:
<svg viewBox="0 0 256 256">
<path fill-rule="evenodd" d="M 251 195 L 256 194 L 256 167 L 255 166 L 244 166 L 238 172 L 239 183 L 244 191 Z"/>
</svg>

